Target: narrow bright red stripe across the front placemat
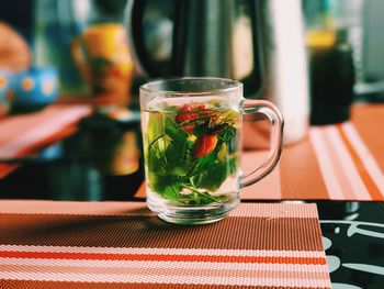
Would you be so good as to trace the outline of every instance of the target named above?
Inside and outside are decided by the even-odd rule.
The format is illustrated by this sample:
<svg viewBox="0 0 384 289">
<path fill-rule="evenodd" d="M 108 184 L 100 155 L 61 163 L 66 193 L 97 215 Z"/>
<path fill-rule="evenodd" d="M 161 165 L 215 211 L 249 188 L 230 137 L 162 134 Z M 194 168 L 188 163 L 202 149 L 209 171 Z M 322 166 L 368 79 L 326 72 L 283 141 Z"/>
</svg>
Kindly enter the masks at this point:
<svg viewBox="0 0 384 289">
<path fill-rule="evenodd" d="M 0 257 L 37 259 L 83 259 L 83 260 L 153 260 L 153 262 L 215 262 L 215 263 L 268 263 L 324 265 L 319 257 L 273 257 L 273 256 L 210 256 L 210 255 L 150 255 L 150 254 L 104 254 L 104 253 L 55 253 L 55 252 L 9 252 L 0 251 Z"/>
</svg>

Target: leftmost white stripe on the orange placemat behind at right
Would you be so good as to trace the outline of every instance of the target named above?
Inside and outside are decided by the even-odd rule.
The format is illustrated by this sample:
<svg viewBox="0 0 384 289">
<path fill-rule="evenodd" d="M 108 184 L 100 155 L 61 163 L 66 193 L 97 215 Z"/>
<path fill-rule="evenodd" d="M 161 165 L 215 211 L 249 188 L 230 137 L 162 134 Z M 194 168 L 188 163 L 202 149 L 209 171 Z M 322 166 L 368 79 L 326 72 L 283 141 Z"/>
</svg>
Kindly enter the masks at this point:
<svg viewBox="0 0 384 289">
<path fill-rule="evenodd" d="M 330 159 L 330 153 L 327 149 L 327 146 L 324 143 L 324 140 L 321 136 L 321 129 L 319 127 L 312 127 L 309 130 L 309 137 L 312 145 L 315 151 L 315 155 L 320 168 L 320 173 L 323 175 L 324 182 L 326 185 L 328 194 L 331 200 L 342 200 L 343 193 L 340 187 L 340 184 L 336 177 L 335 174 L 335 167 L 332 166 L 331 159 Z"/>
</svg>

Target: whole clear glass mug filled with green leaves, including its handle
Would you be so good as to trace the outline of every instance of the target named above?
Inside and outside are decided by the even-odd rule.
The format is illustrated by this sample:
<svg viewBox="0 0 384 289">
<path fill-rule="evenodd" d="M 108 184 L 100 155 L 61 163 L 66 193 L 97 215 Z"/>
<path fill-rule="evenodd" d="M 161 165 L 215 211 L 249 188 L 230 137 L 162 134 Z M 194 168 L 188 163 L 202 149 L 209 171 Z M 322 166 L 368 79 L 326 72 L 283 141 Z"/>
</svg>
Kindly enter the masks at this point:
<svg viewBox="0 0 384 289">
<path fill-rule="evenodd" d="M 222 78 L 158 80 L 140 87 L 147 204 L 171 223 L 218 221 L 239 203 L 239 190 L 278 164 L 283 119 L 269 101 L 242 97 L 242 84 Z M 264 114 L 270 152 L 240 170 L 242 115 Z"/>
</svg>

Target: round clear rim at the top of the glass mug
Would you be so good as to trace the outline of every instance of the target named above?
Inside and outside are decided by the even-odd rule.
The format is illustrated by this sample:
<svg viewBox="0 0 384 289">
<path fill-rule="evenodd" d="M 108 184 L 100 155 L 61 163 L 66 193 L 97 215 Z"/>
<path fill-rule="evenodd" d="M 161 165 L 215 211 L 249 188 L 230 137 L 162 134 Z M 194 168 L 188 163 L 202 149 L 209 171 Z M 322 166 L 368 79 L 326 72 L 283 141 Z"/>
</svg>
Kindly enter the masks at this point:
<svg viewBox="0 0 384 289">
<path fill-rule="evenodd" d="M 156 86 L 159 86 L 161 84 L 171 84 L 171 82 L 178 82 L 178 81 L 182 81 L 182 80 L 213 80 L 213 81 L 225 81 L 228 85 L 226 87 L 223 86 L 223 88 L 215 88 L 215 89 L 202 89 L 201 91 L 176 91 L 176 90 L 162 90 L 159 88 L 153 88 Z M 156 80 L 151 80 L 148 81 L 144 85 L 142 85 L 140 87 L 140 91 L 147 92 L 147 93 L 158 93 L 158 95 L 162 95 L 162 96 L 184 96 L 188 93 L 191 95 L 200 95 L 200 96 L 204 96 L 204 95 L 214 95 L 214 93 L 228 93 L 231 91 L 235 91 L 237 89 L 241 89 L 242 88 L 242 82 L 238 81 L 238 80 L 234 80 L 230 78 L 221 78 L 221 77 L 176 77 L 176 78 L 161 78 L 161 79 L 156 79 Z"/>
</svg>

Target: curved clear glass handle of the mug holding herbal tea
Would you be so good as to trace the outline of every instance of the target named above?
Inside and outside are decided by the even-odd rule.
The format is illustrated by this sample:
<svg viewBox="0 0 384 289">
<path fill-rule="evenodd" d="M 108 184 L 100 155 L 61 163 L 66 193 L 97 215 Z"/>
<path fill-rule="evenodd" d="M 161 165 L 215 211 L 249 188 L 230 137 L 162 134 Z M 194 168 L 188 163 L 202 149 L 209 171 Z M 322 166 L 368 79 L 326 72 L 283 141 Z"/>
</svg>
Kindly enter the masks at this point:
<svg viewBox="0 0 384 289">
<path fill-rule="evenodd" d="M 284 120 L 281 112 L 273 103 L 267 100 L 246 99 L 242 107 L 242 114 L 261 113 L 267 116 L 272 125 L 271 147 L 267 158 L 253 171 L 242 176 L 240 186 L 248 187 L 266 177 L 276 166 L 281 156 Z"/>
</svg>

